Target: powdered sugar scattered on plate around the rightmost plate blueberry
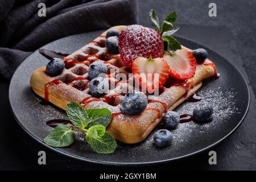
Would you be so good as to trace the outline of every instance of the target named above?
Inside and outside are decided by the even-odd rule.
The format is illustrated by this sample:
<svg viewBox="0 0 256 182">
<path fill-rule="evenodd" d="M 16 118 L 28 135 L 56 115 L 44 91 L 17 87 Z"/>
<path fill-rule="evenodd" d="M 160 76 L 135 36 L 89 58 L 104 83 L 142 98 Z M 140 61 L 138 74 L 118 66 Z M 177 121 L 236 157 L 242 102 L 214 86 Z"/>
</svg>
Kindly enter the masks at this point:
<svg viewBox="0 0 256 182">
<path fill-rule="evenodd" d="M 208 102 L 213 106 L 213 121 L 203 125 L 195 122 L 181 123 L 177 130 L 174 130 L 175 138 L 186 140 L 187 137 L 184 137 L 184 135 L 189 136 L 195 130 L 199 130 L 199 133 L 207 133 L 208 130 L 214 130 L 216 127 L 220 127 L 221 123 L 229 121 L 232 115 L 240 113 L 236 107 L 237 93 L 233 90 L 217 88 L 198 93 L 203 97 L 200 102 Z M 200 102 L 185 102 L 177 107 L 175 111 L 179 114 L 192 114 L 193 109 L 198 107 Z"/>
</svg>

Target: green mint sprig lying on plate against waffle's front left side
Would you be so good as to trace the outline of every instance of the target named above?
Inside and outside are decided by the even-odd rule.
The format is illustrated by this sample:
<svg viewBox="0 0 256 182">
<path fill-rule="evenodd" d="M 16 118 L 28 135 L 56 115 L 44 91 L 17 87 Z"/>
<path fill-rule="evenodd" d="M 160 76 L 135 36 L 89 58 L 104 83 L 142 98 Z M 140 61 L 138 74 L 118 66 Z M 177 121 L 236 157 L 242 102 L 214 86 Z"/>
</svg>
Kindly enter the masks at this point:
<svg viewBox="0 0 256 182">
<path fill-rule="evenodd" d="M 44 138 L 44 143 L 52 147 L 67 147 L 75 140 L 74 131 L 85 134 L 85 140 L 94 151 L 99 154 L 111 154 L 115 151 L 117 143 L 114 137 L 106 131 L 112 114 L 106 108 L 87 109 L 76 102 L 67 105 L 69 121 L 74 125 L 58 125 Z"/>
</svg>

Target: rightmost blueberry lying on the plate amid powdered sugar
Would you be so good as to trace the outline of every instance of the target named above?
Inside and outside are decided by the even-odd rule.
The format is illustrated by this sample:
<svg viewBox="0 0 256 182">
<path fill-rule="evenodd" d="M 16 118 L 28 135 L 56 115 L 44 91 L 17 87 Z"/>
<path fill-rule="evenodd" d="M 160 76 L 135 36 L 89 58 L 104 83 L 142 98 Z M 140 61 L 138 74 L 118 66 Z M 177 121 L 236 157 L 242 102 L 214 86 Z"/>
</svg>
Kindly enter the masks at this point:
<svg viewBox="0 0 256 182">
<path fill-rule="evenodd" d="M 201 103 L 193 110 L 193 117 L 199 122 L 208 122 L 213 114 L 213 107 L 208 103 Z"/>
</svg>

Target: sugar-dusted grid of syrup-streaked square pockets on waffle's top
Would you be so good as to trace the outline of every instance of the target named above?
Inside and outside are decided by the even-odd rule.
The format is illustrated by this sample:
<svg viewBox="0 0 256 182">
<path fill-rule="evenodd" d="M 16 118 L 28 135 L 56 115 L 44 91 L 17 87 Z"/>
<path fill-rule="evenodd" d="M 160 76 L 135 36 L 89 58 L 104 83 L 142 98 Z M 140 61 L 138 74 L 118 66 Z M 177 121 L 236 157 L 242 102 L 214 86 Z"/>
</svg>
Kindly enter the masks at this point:
<svg viewBox="0 0 256 182">
<path fill-rule="evenodd" d="M 139 88 L 138 85 L 135 87 L 134 80 L 129 78 L 128 74 L 131 73 L 130 69 L 127 69 L 121 62 L 121 59 L 118 55 L 108 53 L 105 47 L 105 35 L 101 35 L 85 47 L 81 48 L 79 51 L 76 51 L 72 55 L 65 57 L 65 69 L 60 76 L 57 76 L 55 80 L 60 80 L 64 84 L 71 85 L 73 88 L 80 90 L 80 92 L 85 92 L 89 94 L 89 78 L 88 78 L 88 69 L 89 65 L 94 61 L 103 61 L 108 67 L 108 74 L 106 79 L 109 80 L 109 85 L 111 90 L 106 96 L 102 98 L 94 98 L 88 96 L 80 102 L 81 105 L 86 105 L 90 101 L 104 101 L 112 106 L 118 106 L 122 101 L 122 97 L 129 92 L 129 90 Z M 114 72 L 110 72 L 111 69 Z M 124 73 L 126 75 L 126 81 L 117 80 L 118 74 Z M 130 79 L 130 80 L 129 80 Z M 133 81 L 133 85 L 129 84 L 128 81 Z M 48 85 L 52 83 L 49 82 Z M 166 84 L 167 86 L 162 86 L 159 91 L 161 93 L 171 85 Z M 138 90 L 138 89 L 137 89 Z M 148 94 L 147 94 L 148 95 Z M 154 96 L 154 98 L 157 98 Z M 150 102 L 155 102 L 149 100 Z M 164 102 L 158 101 L 164 107 L 167 107 Z M 167 109 L 167 108 L 166 108 Z M 159 111 L 158 111 L 159 112 Z"/>
</svg>

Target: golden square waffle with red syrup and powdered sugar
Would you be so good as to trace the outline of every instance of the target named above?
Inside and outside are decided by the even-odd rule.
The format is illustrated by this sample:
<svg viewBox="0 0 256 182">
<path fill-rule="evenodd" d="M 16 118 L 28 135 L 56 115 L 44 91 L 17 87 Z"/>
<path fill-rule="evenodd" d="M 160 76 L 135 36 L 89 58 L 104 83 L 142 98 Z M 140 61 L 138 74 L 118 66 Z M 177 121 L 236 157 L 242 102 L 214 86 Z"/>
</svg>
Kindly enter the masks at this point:
<svg viewBox="0 0 256 182">
<path fill-rule="evenodd" d="M 115 26 L 122 31 L 126 26 Z M 108 30 L 107 30 L 108 31 Z M 85 109 L 108 108 L 112 112 L 112 122 L 107 130 L 115 139 L 123 143 L 141 142 L 161 121 L 167 110 L 173 110 L 198 90 L 202 80 L 216 74 L 215 65 L 210 60 L 197 65 L 196 74 L 186 81 L 173 81 L 168 78 L 159 89 L 159 96 L 147 94 L 147 108 L 138 115 L 123 114 L 120 109 L 124 90 L 134 89 L 127 81 L 118 81 L 119 73 L 128 75 L 130 69 L 123 66 L 119 54 L 108 53 L 105 48 L 106 32 L 86 44 L 78 51 L 64 58 L 65 69 L 61 75 L 48 76 L 46 67 L 36 69 L 31 76 L 30 85 L 34 92 L 52 104 L 65 110 L 68 102 L 79 102 Z M 182 47 L 184 49 L 188 49 Z M 88 68 L 93 61 L 104 61 L 108 67 L 108 80 L 115 84 L 114 89 L 101 98 L 89 94 Z M 115 69 L 110 73 L 110 69 Z"/>
</svg>

